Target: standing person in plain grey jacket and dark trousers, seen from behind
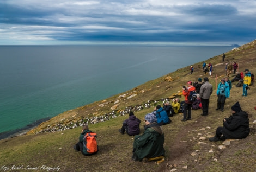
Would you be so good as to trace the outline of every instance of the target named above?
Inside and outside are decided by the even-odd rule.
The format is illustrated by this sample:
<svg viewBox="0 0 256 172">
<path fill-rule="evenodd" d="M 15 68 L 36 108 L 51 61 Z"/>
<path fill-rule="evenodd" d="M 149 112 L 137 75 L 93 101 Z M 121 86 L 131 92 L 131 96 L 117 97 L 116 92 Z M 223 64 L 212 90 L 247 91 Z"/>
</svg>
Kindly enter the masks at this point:
<svg viewBox="0 0 256 172">
<path fill-rule="evenodd" d="M 199 93 L 201 98 L 201 103 L 202 103 L 202 109 L 203 109 L 203 113 L 201 114 L 202 116 L 208 115 L 210 96 L 212 92 L 213 92 L 212 85 L 209 83 L 209 79 L 205 77 L 204 84 L 202 84 L 200 88 L 200 93 Z"/>
</svg>

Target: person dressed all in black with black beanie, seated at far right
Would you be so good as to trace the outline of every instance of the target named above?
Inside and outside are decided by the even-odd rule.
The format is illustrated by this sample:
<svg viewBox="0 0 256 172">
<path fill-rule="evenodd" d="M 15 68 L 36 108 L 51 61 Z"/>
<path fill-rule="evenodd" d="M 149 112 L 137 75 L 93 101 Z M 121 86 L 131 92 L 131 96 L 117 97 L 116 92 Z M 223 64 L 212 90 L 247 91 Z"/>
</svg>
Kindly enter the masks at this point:
<svg viewBox="0 0 256 172">
<path fill-rule="evenodd" d="M 250 133 L 248 113 L 242 111 L 237 101 L 231 107 L 232 115 L 223 119 L 223 127 L 219 126 L 215 136 L 209 138 L 209 141 L 217 142 L 225 139 L 246 138 Z"/>
</svg>

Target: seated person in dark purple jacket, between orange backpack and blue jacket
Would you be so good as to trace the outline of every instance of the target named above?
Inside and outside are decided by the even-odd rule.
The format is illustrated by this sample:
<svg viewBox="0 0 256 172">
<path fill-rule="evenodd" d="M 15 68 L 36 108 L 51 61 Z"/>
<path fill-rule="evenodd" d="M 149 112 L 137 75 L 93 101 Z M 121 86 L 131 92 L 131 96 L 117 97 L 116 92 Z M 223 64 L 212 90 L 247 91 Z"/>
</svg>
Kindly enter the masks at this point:
<svg viewBox="0 0 256 172">
<path fill-rule="evenodd" d="M 135 136 L 138 135 L 139 132 L 141 132 L 141 129 L 139 129 L 139 124 L 141 124 L 141 120 L 136 118 L 134 113 L 131 111 L 129 113 L 129 118 L 124 120 L 122 128 L 118 131 L 121 134 L 124 134 L 124 132 L 126 131 L 129 136 Z"/>
</svg>

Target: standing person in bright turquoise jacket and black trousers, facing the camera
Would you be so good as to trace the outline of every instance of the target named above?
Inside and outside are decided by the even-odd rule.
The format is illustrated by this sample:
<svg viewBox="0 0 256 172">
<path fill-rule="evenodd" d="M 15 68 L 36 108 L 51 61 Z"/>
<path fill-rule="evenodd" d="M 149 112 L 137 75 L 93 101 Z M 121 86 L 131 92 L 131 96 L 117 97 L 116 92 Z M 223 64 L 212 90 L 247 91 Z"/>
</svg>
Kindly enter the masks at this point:
<svg viewBox="0 0 256 172">
<path fill-rule="evenodd" d="M 225 78 L 221 79 L 221 83 L 218 84 L 218 88 L 217 88 L 217 110 L 221 110 L 222 112 L 224 111 L 224 105 L 225 105 L 225 99 L 229 98 L 229 85 L 228 83 L 225 81 Z"/>
</svg>

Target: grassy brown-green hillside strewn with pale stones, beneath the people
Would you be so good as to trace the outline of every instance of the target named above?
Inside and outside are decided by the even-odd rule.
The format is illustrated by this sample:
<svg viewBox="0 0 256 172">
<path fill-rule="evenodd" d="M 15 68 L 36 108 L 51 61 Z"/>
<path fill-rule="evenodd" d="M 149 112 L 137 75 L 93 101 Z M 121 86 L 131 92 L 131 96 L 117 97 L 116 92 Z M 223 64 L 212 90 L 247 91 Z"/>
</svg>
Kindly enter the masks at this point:
<svg viewBox="0 0 256 172">
<path fill-rule="evenodd" d="M 215 111 L 215 108 L 217 106 L 216 82 L 219 83 L 225 76 L 225 62 L 236 61 L 239 63 L 239 71 L 248 68 L 252 73 L 256 73 L 256 40 L 230 52 L 224 52 L 226 54 L 224 62 L 222 62 L 223 52 L 219 53 L 220 55 L 205 60 L 207 64 L 214 65 L 213 77 L 209 78 L 214 86 L 214 93 L 210 98 L 209 116 L 201 116 L 202 110 L 192 110 L 192 120 L 187 122 L 181 122 L 182 114 L 171 117 L 172 123 L 163 126 L 166 158 L 161 164 L 157 165 L 154 161 L 133 162 L 131 160 L 133 137 L 121 135 L 118 132 L 128 115 L 118 114 L 126 107 L 138 107 L 150 100 L 150 108 L 144 107 L 142 110 L 135 111 L 136 117 L 142 120 L 142 133 L 145 114 L 153 111 L 154 105 L 162 105 L 161 98 L 178 94 L 188 80 L 196 81 L 198 78 L 209 77 L 209 74 L 204 74 L 202 71 L 202 62 L 191 64 L 194 66 L 193 74 L 190 74 L 190 67 L 181 68 L 106 100 L 59 114 L 27 135 L 2 139 L 0 141 L 1 170 L 11 171 L 11 168 L 15 167 L 20 168 L 17 171 L 27 171 L 26 169 L 47 171 L 49 168 L 58 168 L 54 171 L 170 171 L 174 169 L 176 171 L 255 171 L 255 86 L 250 86 L 248 96 L 242 97 L 242 87 L 235 87 L 236 82 L 234 82 L 230 98 L 226 100 L 224 112 Z M 172 81 L 168 81 L 167 77 L 172 77 Z M 230 77 L 230 80 L 231 78 L 233 77 Z M 136 96 L 127 99 L 130 95 Z M 183 97 L 180 99 L 184 100 Z M 230 107 L 236 101 L 239 101 L 241 108 L 249 114 L 251 133 L 247 138 L 230 141 L 230 145 L 224 145 L 225 149 L 219 149 L 218 146 L 223 145 L 223 142 L 212 143 L 208 138 L 214 136 L 217 126 L 223 125 L 222 119 L 230 116 Z M 117 106 L 116 109 L 111 109 L 113 106 Z M 81 152 L 73 149 L 73 145 L 78 141 L 81 126 L 64 131 L 35 134 L 47 128 L 53 128 L 52 126 L 71 126 L 71 123 L 104 116 L 105 113 L 112 111 L 118 117 L 89 124 L 90 130 L 99 136 L 97 138 L 99 152 L 94 156 L 83 156 Z"/>
</svg>

